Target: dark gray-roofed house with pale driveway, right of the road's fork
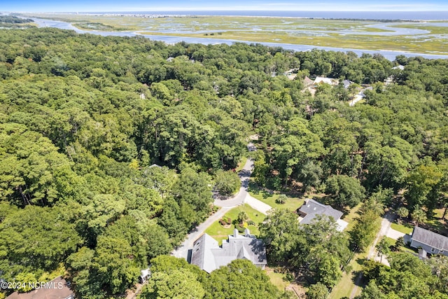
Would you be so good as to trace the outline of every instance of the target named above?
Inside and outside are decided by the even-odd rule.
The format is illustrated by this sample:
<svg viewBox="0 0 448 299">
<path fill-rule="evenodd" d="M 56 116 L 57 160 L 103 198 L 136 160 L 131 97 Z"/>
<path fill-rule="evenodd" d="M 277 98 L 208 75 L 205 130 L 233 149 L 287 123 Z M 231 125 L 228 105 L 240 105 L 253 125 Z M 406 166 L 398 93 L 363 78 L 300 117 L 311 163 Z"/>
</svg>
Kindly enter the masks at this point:
<svg viewBox="0 0 448 299">
<path fill-rule="evenodd" d="M 333 209 L 328 204 L 321 204 L 316 200 L 307 200 L 298 210 L 300 224 L 309 224 L 316 218 L 317 215 L 325 215 L 335 219 L 337 223 L 337 230 L 342 232 L 349 223 L 341 220 L 342 211 Z"/>
</svg>

